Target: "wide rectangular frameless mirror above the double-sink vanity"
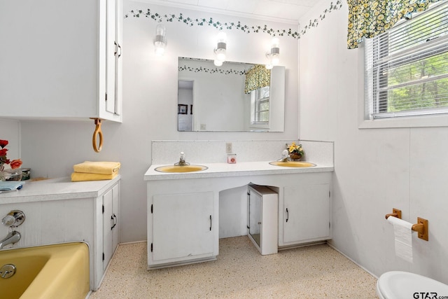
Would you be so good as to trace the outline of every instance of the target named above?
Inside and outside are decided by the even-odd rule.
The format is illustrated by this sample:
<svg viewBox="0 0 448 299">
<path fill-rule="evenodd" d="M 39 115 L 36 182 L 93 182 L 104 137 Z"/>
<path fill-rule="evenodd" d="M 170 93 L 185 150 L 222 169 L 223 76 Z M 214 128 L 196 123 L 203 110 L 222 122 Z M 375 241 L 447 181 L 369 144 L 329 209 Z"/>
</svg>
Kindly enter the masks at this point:
<svg viewBox="0 0 448 299">
<path fill-rule="evenodd" d="M 179 57 L 178 131 L 283 132 L 285 67 L 265 75 L 265 88 L 245 90 L 246 75 L 258 70 L 266 72 L 256 64 L 216 67 L 213 60 Z"/>
</svg>

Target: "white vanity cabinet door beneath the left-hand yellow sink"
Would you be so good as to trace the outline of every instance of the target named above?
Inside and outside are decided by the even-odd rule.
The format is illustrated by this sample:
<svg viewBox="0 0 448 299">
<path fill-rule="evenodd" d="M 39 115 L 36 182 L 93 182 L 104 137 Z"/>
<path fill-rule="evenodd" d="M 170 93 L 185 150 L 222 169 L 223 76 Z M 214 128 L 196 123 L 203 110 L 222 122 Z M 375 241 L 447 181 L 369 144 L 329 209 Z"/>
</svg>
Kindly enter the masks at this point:
<svg viewBox="0 0 448 299">
<path fill-rule="evenodd" d="M 167 263 L 214 255 L 214 193 L 153 197 L 152 260 Z"/>
</svg>

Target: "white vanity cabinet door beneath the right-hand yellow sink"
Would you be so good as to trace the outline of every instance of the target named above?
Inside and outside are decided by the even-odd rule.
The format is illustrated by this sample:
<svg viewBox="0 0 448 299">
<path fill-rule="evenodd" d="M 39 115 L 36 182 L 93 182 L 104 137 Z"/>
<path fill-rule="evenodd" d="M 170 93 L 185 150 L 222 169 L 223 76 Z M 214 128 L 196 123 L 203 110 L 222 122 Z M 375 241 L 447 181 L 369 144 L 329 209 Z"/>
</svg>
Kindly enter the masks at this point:
<svg viewBox="0 0 448 299">
<path fill-rule="evenodd" d="M 330 236 L 328 184 L 287 186 L 283 194 L 283 244 Z"/>
</svg>

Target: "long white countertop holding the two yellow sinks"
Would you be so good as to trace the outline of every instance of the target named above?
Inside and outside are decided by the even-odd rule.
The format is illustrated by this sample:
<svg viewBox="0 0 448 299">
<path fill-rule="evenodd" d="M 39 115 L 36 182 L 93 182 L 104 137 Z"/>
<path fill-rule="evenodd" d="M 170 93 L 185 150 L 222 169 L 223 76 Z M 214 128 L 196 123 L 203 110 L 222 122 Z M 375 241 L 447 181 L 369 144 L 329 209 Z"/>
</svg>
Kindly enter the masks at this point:
<svg viewBox="0 0 448 299">
<path fill-rule="evenodd" d="M 237 162 L 229 163 L 191 163 L 192 165 L 203 165 L 209 167 L 200 172 L 158 172 L 155 168 L 165 165 L 151 165 L 144 175 L 145 181 L 169 180 L 169 179 L 203 179 L 225 176 L 257 176 L 267 174 L 302 174 L 311 172 L 333 172 L 333 165 L 320 165 L 314 167 L 283 167 L 270 165 L 272 161 L 261 162 Z M 312 161 L 305 161 L 311 162 Z"/>
</svg>

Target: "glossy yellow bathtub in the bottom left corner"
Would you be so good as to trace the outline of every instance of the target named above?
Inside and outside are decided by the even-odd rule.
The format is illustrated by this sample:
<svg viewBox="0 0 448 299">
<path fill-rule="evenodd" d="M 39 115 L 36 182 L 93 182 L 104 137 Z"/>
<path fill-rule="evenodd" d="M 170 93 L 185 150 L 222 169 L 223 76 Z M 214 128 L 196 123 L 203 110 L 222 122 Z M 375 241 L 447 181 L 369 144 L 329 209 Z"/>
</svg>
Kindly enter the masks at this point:
<svg viewBox="0 0 448 299">
<path fill-rule="evenodd" d="M 8 264 L 15 274 L 2 278 Z M 89 248 L 82 242 L 1 250 L 2 267 L 0 298 L 84 299 L 90 291 Z"/>
</svg>

